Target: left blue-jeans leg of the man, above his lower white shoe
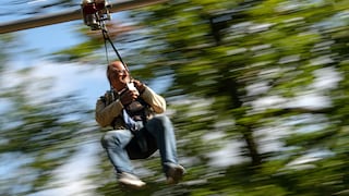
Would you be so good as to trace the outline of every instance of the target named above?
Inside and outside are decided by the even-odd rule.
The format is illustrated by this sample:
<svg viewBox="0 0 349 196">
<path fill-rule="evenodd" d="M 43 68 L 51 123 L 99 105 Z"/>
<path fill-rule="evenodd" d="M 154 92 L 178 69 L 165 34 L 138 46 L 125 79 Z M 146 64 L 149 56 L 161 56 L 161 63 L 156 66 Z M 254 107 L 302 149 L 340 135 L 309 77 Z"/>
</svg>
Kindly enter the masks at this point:
<svg viewBox="0 0 349 196">
<path fill-rule="evenodd" d="M 117 173 L 133 173 L 133 167 L 124 149 L 133 135 L 129 130 L 109 131 L 101 138 L 101 145 L 106 149 L 109 160 Z"/>
</svg>

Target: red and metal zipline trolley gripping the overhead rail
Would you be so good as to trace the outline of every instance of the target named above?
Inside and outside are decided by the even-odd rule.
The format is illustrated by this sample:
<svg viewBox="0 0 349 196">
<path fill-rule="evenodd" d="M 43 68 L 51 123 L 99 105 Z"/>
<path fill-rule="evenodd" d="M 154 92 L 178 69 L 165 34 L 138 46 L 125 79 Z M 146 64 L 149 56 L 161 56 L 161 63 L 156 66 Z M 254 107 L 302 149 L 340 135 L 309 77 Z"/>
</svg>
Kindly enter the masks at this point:
<svg viewBox="0 0 349 196">
<path fill-rule="evenodd" d="M 83 0 L 81 3 L 84 23 L 92 30 L 101 29 L 103 22 L 110 20 L 108 0 Z"/>
</svg>

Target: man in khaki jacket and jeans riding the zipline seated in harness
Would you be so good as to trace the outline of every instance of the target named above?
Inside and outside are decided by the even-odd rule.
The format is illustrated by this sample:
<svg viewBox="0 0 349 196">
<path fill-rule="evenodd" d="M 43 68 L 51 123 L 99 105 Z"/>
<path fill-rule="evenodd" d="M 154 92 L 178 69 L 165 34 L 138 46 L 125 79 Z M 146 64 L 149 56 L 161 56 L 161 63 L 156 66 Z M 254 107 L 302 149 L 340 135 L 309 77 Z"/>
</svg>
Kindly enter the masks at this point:
<svg viewBox="0 0 349 196">
<path fill-rule="evenodd" d="M 110 127 L 101 144 L 121 185 L 141 188 L 145 183 L 133 171 L 130 159 L 144 159 L 159 149 L 163 171 L 170 184 L 185 170 L 178 163 L 171 121 L 164 114 L 165 99 L 140 81 L 131 79 L 127 66 L 115 61 L 107 68 L 111 85 L 96 103 L 96 121 Z"/>
</svg>

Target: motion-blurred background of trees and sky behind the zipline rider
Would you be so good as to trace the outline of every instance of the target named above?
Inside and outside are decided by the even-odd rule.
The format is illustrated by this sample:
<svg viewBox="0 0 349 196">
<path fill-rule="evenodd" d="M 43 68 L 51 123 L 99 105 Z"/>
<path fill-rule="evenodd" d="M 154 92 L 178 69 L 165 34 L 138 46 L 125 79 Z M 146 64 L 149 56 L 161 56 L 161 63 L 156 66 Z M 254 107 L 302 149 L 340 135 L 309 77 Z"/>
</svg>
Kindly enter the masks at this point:
<svg viewBox="0 0 349 196">
<path fill-rule="evenodd" d="M 113 1 L 112 1 L 113 2 Z M 80 8 L 9 0 L 1 22 Z M 349 3 L 173 0 L 112 14 L 134 77 L 168 101 L 184 181 L 118 187 L 95 101 L 109 88 L 100 32 L 83 21 L 0 35 L 0 194 L 349 195 Z M 107 52 L 107 56 L 106 56 Z"/>
</svg>

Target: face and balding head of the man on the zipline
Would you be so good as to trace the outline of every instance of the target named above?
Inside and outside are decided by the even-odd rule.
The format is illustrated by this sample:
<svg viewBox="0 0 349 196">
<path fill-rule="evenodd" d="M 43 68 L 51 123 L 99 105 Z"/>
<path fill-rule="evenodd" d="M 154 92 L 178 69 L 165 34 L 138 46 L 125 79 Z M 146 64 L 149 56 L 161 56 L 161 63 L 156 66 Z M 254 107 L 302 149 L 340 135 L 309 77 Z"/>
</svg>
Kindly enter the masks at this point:
<svg viewBox="0 0 349 196">
<path fill-rule="evenodd" d="M 121 62 L 115 62 L 110 65 L 111 77 L 110 82 L 113 88 L 120 90 L 125 87 L 127 83 L 130 83 L 130 74 L 122 65 Z"/>
</svg>

